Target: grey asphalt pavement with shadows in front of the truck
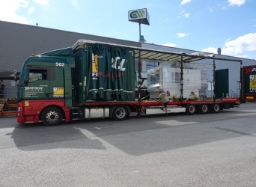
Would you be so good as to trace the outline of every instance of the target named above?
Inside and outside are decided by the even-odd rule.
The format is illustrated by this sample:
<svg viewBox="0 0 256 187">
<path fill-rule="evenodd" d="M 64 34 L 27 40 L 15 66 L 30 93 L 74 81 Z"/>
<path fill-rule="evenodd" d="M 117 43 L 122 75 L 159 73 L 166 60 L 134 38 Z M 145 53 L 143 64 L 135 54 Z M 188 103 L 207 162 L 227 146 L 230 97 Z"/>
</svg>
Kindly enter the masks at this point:
<svg viewBox="0 0 256 187">
<path fill-rule="evenodd" d="M 0 186 L 256 186 L 256 103 L 60 126 L 0 117 Z"/>
</svg>

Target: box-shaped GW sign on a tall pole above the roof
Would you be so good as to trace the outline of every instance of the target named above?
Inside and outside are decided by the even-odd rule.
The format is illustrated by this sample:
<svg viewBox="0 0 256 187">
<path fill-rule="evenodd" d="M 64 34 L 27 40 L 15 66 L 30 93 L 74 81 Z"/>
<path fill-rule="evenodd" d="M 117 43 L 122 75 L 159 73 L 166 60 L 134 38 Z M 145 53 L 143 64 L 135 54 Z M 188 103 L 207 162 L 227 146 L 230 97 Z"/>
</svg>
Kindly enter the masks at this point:
<svg viewBox="0 0 256 187">
<path fill-rule="evenodd" d="M 150 25 L 150 17 L 147 8 L 139 10 L 129 10 L 128 17 L 130 22 L 138 22 L 145 25 Z"/>
</svg>

